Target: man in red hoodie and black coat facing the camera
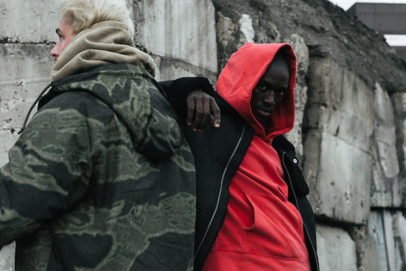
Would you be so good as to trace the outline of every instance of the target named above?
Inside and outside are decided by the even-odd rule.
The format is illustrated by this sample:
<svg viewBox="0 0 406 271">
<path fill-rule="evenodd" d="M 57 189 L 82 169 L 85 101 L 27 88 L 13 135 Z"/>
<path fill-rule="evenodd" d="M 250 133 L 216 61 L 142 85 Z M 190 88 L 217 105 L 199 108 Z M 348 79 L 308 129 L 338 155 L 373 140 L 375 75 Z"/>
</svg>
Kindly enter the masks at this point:
<svg viewBox="0 0 406 271">
<path fill-rule="evenodd" d="M 293 127 L 295 76 L 289 44 L 247 43 L 216 93 L 197 85 L 215 98 L 222 121 L 201 133 L 185 128 L 196 166 L 195 270 L 319 270 L 309 187 L 282 136 Z M 190 94 L 177 90 L 195 89 L 186 81 L 165 87 L 173 105 Z M 188 96 L 189 109 L 199 93 Z"/>
</svg>

